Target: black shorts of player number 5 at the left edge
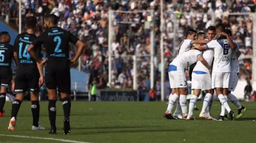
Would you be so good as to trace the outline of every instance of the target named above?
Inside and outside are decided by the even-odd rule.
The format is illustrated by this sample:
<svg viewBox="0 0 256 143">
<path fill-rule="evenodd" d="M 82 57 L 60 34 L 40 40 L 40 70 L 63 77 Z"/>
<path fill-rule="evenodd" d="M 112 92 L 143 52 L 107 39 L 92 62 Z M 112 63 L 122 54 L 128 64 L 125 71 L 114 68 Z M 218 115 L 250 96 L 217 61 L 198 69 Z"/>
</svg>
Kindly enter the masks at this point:
<svg viewBox="0 0 256 143">
<path fill-rule="evenodd" d="M 0 68 L 1 87 L 10 87 L 11 79 L 13 79 L 13 71 L 10 68 Z"/>
</svg>

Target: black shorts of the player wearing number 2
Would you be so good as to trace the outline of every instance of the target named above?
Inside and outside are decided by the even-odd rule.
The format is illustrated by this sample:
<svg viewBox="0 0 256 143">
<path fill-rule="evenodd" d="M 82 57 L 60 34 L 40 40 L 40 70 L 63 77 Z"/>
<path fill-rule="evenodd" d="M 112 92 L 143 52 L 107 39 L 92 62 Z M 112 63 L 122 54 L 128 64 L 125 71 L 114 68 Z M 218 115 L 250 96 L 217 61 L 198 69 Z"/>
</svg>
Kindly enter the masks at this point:
<svg viewBox="0 0 256 143">
<path fill-rule="evenodd" d="M 57 89 L 58 92 L 71 93 L 71 77 L 69 62 L 56 63 L 50 61 L 45 68 L 45 85 L 48 89 Z"/>
</svg>

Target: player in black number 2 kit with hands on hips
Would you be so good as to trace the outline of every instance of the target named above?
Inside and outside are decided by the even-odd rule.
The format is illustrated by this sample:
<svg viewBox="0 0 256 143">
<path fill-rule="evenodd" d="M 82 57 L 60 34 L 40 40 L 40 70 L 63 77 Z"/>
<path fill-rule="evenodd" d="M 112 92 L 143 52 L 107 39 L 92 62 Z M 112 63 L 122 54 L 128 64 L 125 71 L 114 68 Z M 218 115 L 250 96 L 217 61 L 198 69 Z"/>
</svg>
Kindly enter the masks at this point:
<svg viewBox="0 0 256 143">
<path fill-rule="evenodd" d="M 85 45 L 77 37 L 70 32 L 57 27 L 58 18 L 51 14 L 44 17 L 45 31 L 37 37 L 34 42 L 29 45 L 28 53 L 35 59 L 41 66 L 45 68 L 45 85 L 49 96 L 49 119 L 51 123 L 51 130 L 49 134 L 56 134 L 56 100 L 57 89 L 63 101 L 64 111 L 64 127 L 63 133 L 69 134 L 69 115 L 71 110 L 71 100 L 69 98 L 71 92 L 71 77 L 70 69 L 77 59 L 82 54 Z M 75 44 L 78 49 L 74 59 L 69 60 L 69 42 Z M 38 58 L 34 52 L 34 47 L 39 45 L 44 46 L 46 50 L 46 59 Z"/>
</svg>

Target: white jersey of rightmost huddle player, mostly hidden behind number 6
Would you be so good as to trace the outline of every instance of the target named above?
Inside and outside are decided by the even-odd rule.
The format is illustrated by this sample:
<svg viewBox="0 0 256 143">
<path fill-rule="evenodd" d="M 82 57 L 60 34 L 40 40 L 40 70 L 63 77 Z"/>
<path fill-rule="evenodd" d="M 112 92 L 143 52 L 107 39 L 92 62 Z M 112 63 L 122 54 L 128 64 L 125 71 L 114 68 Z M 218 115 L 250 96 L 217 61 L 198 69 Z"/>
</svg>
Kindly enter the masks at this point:
<svg viewBox="0 0 256 143">
<path fill-rule="evenodd" d="M 239 63 L 238 63 L 238 58 L 236 56 L 237 52 L 239 51 L 239 44 L 234 40 L 233 41 L 234 45 L 235 45 L 235 49 L 232 50 L 232 54 L 231 54 L 231 72 L 236 72 L 239 73 Z"/>
</svg>

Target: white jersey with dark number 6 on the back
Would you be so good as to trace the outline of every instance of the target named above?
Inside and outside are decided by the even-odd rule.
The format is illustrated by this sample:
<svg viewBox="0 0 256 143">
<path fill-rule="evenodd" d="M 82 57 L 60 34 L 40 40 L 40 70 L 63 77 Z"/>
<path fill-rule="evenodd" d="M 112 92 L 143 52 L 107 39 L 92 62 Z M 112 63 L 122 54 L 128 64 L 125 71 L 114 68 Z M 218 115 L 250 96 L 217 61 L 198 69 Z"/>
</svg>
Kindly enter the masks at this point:
<svg viewBox="0 0 256 143">
<path fill-rule="evenodd" d="M 228 40 L 212 40 L 206 44 L 206 47 L 214 49 L 213 72 L 231 72 L 232 49 L 228 44 Z"/>
</svg>

